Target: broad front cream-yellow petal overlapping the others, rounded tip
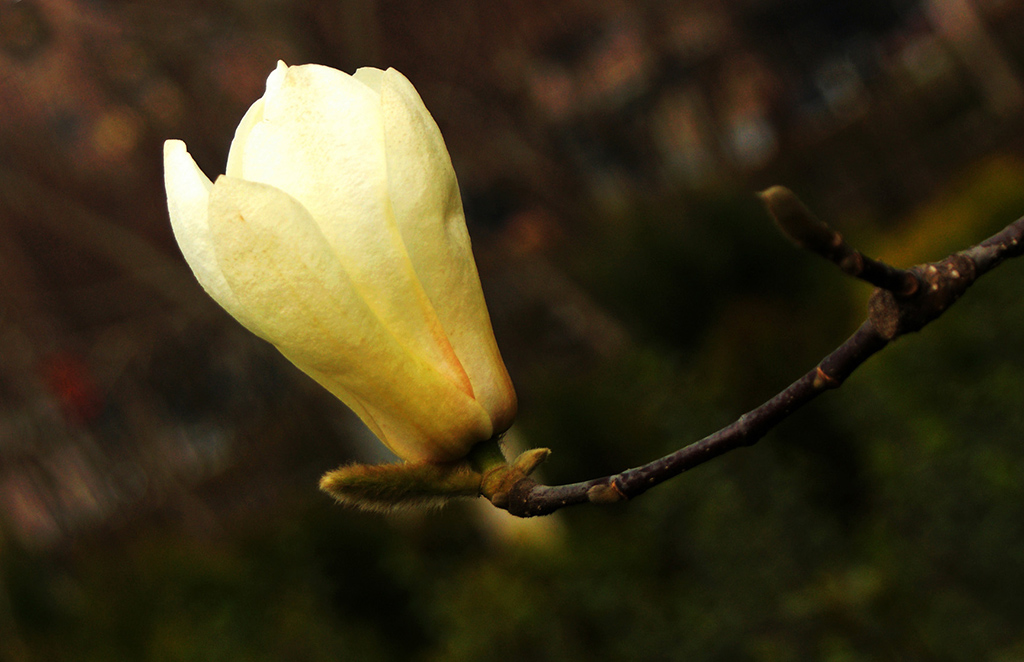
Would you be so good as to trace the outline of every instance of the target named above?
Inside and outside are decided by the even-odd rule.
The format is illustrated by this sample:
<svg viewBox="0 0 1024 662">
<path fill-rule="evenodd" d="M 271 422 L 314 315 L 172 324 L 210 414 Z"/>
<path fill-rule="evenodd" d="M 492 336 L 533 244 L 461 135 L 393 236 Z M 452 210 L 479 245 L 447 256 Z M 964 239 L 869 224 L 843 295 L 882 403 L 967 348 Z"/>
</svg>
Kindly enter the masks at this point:
<svg viewBox="0 0 1024 662">
<path fill-rule="evenodd" d="M 479 404 L 367 304 L 299 201 L 220 177 L 210 225 L 220 268 L 264 337 L 352 406 L 397 455 L 456 459 L 490 436 Z"/>
</svg>

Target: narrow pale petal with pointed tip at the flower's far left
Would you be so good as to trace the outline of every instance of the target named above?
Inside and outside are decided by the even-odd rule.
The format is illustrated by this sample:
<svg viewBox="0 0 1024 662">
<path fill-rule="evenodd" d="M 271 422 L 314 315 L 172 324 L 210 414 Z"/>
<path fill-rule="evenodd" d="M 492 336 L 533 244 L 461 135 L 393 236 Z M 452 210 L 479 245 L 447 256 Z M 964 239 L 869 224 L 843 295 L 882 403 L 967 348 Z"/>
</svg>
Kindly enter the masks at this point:
<svg viewBox="0 0 1024 662">
<path fill-rule="evenodd" d="M 181 140 L 164 142 L 164 185 L 174 239 L 196 279 L 217 303 L 259 335 L 258 326 L 239 305 L 214 254 L 208 219 L 213 183 Z"/>
</svg>

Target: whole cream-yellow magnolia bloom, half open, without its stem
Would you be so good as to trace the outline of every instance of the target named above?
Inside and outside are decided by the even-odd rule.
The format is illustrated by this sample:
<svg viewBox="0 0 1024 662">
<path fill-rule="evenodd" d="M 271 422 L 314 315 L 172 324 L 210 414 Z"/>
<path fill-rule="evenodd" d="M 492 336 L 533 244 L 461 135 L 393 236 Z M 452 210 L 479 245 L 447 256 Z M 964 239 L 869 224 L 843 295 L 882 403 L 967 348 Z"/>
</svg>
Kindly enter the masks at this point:
<svg viewBox="0 0 1024 662">
<path fill-rule="evenodd" d="M 215 182 L 164 144 L 181 252 L 239 322 L 410 461 L 512 423 L 444 140 L 393 69 L 278 69 Z"/>
</svg>

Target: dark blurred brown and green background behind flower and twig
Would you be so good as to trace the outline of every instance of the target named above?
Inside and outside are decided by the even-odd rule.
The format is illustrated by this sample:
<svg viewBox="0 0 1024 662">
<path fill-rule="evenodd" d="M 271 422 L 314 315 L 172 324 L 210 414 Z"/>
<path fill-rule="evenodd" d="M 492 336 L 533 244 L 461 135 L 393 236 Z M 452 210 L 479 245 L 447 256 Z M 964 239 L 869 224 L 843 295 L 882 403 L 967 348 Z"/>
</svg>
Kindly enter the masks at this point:
<svg viewBox="0 0 1024 662">
<path fill-rule="evenodd" d="M 279 58 L 395 67 L 459 173 L 547 482 L 729 423 L 1024 213 L 1019 0 L 0 0 L 0 660 L 1024 659 L 1024 265 L 761 444 L 521 522 L 316 490 L 386 451 L 170 233 Z"/>
</svg>

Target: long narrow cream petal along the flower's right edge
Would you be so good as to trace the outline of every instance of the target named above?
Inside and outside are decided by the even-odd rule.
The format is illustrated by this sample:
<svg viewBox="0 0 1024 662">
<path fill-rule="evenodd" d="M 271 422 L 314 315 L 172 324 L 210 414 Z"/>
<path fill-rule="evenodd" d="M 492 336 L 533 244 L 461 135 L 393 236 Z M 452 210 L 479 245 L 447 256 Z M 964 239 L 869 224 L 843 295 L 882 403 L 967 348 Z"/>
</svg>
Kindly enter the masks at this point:
<svg viewBox="0 0 1024 662">
<path fill-rule="evenodd" d="M 390 198 L 406 248 L 477 400 L 503 431 L 515 416 L 515 391 L 490 327 L 447 149 L 404 76 L 389 69 L 380 89 Z"/>
</svg>

